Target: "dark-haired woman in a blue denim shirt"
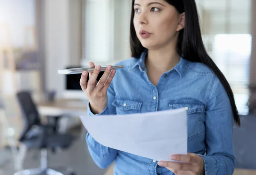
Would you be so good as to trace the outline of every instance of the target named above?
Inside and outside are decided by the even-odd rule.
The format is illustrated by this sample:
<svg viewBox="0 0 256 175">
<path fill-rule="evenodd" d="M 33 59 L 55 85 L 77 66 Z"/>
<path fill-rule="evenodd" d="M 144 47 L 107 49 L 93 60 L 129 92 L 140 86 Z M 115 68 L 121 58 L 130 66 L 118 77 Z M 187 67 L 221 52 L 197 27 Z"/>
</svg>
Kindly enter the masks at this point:
<svg viewBox="0 0 256 175">
<path fill-rule="evenodd" d="M 227 80 L 205 51 L 195 0 L 133 0 L 132 58 L 109 66 L 99 82 L 96 66 L 80 84 L 89 115 L 144 113 L 186 107 L 188 155 L 155 161 L 86 140 L 101 168 L 115 175 L 232 175 L 233 125 L 240 125 Z M 89 66 L 94 66 L 90 62 Z M 114 78 L 113 78 L 114 77 Z M 154 128 L 152 128 L 154 130 Z"/>
</svg>

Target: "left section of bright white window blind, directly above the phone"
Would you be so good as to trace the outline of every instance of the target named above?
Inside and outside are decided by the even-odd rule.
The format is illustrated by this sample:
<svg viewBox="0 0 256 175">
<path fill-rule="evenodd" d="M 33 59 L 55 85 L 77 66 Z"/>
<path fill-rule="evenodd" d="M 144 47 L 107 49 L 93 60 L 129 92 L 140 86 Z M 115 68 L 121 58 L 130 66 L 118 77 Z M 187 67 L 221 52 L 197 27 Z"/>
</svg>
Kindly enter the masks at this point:
<svg viewBox="0 0 256 175">
<path fill-rule="evenodd" d="M 113 6 L 111 0 L 84 0 L 83 58 L 111 61 L 113 48 Z"/>
</svg>

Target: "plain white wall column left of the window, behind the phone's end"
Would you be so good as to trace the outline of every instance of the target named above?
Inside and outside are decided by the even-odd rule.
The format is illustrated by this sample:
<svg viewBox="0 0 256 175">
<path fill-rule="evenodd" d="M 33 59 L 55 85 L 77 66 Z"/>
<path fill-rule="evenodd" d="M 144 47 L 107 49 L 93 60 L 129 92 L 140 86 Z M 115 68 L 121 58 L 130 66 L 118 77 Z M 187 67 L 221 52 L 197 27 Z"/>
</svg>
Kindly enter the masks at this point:
<svg viewBox="0 0 256 175">
<path fill-rule="evenodd" d="M 78 65 L 81 59 L 81 0 L 45 0 L 45 82 L 47 90 L 65 87 L 58 69 Z"/>
</svg>

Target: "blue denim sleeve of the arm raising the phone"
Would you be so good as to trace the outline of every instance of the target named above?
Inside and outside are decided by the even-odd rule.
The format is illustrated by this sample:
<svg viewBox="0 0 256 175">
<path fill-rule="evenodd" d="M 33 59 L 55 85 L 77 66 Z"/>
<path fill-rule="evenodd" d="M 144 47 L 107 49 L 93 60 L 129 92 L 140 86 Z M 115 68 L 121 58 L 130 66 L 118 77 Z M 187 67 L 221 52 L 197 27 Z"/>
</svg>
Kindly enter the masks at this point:
<svg viewBox="0 0 256 175">
<path fill-rule="evenodd" d="M 90 103 L 87 104 L 88 115 L 97 116 L 97 115 L 111 115 L 116 114 L 116 108 L 112 105 L 114 100 L 115 93 L 112 87 L 112 83 L 108 88 L 108 105 L 107 107 L 99 114 L 93 114 L 90 110 Z M 86 142 L 88 150 L 90 152 L 93 161 L 98 165 L 98 167 L 105 169 L 116 159 L 118 150 L 105 147 L 102 144 L 99 144 L 90 133 L 86 135 Z"/>
</svg>

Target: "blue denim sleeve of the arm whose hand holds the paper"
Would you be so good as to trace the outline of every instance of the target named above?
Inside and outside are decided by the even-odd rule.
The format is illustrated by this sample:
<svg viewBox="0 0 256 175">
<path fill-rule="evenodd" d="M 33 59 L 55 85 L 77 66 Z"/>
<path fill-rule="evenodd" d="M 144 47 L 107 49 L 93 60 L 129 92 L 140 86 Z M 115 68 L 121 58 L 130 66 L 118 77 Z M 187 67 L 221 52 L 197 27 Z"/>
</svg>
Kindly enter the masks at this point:
<svg viewBox="0 0 256 175">
<path fill-rule="evenodd" d="M 233 112 L 227 93 L 214 78 L 206 108 L 206 155 L 205 175 L 232 175 L 235 168 L 233 152 Z"/>
</svg>

